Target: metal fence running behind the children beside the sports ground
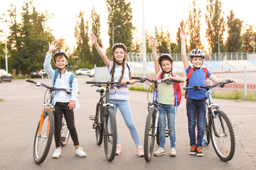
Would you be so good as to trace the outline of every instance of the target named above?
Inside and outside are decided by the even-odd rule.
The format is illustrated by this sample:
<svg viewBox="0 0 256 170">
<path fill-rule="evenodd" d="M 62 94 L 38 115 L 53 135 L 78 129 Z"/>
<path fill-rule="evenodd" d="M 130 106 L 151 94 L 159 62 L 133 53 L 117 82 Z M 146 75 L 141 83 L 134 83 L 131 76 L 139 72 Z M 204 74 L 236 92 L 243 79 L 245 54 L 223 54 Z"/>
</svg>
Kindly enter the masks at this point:
<svg viewBox="0 0 256 170">
<path fill-rule="evenodd" d="M 160 54 L 159 54 L 160 55 Z M 174 58 L 174 74 L 186 79 L 186 72 L 183 69 L 181 54 L 171 54 Z M 215 96 L 219 98 L 240 98 L 245 100 L 256 100 L 256 56 L 248 52 L 212 53 L 203 62 L 209 72 L 216 77 L 231 77 L 238 80 L 238 84 L 228 84 L 218 89 Z M 146 77 L 156 79 L 154 70 L 154 58 L 151 53 L 146 54 Z M 141 53 L 127 55 L 127 62 L 134 67 L 134 76 L 143 76 L 143 60 Z M 190 63 L 191 64 L 191 63 Z M 108 80 L 106 67 L 95 67 L 95 79 L 97 81 Z M 207 79 L 207 84 L 213 84 Z M 184 86 L 184 84 L 181 84 Z"/>
</svg>

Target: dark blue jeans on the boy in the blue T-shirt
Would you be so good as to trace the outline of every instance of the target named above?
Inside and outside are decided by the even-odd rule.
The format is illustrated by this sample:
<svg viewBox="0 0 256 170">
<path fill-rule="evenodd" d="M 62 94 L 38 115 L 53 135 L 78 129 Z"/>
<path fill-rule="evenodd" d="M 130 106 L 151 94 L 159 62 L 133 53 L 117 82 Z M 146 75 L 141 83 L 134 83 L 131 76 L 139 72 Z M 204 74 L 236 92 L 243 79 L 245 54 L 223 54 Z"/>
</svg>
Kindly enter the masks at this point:
<svg viewBox="0 0 256 170">
<path fill-rule="evenodd" d="M 190 145 L 193 147 L 203 147 L 202 140 L 205 132 L 206 121 L 206 100 L 186 99 L 186 109 L 188 116 L 188 134 L 190 137 Z M 197 142 L 195 128 L 197 125 Z"/>
</svg>

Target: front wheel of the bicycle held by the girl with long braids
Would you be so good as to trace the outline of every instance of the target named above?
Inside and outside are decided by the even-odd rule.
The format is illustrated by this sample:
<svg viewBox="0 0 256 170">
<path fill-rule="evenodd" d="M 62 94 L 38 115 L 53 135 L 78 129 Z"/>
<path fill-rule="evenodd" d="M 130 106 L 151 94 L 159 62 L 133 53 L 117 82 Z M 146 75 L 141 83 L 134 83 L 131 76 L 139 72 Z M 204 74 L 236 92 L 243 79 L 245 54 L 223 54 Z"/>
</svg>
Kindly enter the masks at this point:
<svg viewBox="0 0 256 170">
<path fill-rule="evenodd" d="M 117 151 L 117 120 L 112 108 L 107 108 L 104 121 L 104 148 L 107 161 L 112 162 Z"/>
</svg>

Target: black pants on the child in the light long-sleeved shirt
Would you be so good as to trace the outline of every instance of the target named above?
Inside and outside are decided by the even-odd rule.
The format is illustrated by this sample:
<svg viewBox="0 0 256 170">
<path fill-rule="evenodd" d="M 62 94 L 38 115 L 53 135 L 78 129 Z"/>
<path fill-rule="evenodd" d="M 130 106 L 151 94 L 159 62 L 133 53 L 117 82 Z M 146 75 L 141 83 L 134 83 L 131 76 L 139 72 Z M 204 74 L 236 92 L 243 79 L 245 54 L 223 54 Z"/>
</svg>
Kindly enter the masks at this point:
<svg viewBox="0 0 256 170">
<path fill-rule="evenodd" d="M 62 127 L 62 118 L 63 114 L 65 120 L 68 125 L 68 130 L 70 130 L 71 138 L 74 142 L 74 145 L 79 145 L 78 142 L 78 133 L 75 129 L 75 119 L 73 110 L 69 110 L 68 103 L 55 103 L 55 111 L 54 111 L 54 122 L 55 122 L 55 130 L 54 130 L 54 138 L 55 138 L 55 147 L 60 147 L 60 130 Z"/>
</svg>

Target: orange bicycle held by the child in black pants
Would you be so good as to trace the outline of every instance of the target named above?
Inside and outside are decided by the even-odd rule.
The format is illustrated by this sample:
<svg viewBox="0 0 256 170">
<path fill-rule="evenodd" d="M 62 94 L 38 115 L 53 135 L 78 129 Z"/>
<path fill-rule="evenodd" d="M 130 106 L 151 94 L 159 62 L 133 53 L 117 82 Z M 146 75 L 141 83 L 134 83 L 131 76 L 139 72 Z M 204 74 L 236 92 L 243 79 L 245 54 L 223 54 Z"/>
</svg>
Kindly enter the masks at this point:
<svg viewBox="0 0 256 170">
<path fill-rule="evenodd" d="M 46 93 L 44 96 L 43 108 L 41 113 L 41 118 L 39 120 L 38 126 L 36 128 L 36 135 L 33 143 L 33 159 L 36 164 L 41 164 L 46 159 L 48 152 L 50 150 L 50 145 L 53 140 L 54 133 L 54 115 L 53 115 L 53 105 L 51 102 L 55 96 L 53 91 L 65 91 L 70 94 L 70 89 L 58 89 L 55 87 L 47 86 L 46 84 L 42 84 L 30 79 L 26 79 L 29 83 L 36 84 L 36 86 L 45 87 Z M 46 98 L 46 96 L 48 97 Z M 61 128 L 61 145 L 65 146 L 68 143 L 70 138 L 70 131 L 68 130 L 68 126 L 66 120 L 63 116 L 62 120 L 62 128 Z"/>
</svg>

